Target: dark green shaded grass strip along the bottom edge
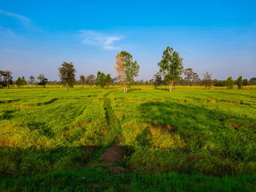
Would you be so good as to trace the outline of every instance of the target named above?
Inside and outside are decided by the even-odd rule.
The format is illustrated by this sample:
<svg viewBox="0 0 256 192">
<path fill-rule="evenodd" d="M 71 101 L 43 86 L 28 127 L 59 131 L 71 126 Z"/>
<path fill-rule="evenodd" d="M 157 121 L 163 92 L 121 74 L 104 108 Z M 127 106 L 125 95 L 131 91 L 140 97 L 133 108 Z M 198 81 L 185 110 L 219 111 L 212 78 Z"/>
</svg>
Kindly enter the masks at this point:
<svg viewBox="0 0 256 192">
<path fill-rule="evenodd" d="M 0 191 L 255 191 L 256 174 L 210 177 L 203 174 L 113 174 L 104 166 L 29 177 L 2 178 Z"/>
</svg>

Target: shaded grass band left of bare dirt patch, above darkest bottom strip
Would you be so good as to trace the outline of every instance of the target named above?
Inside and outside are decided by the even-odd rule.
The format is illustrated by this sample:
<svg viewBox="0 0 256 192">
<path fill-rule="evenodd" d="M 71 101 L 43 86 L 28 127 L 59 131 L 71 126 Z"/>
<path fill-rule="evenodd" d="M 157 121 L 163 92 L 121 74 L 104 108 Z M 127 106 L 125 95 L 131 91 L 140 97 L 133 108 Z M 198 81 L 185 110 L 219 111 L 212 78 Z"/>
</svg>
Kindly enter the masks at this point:
<svg viewBox="0 0 256 192">
<path fill-rule="evenodd" d="M 88 164 L 100 147 L 0 147 L 0 175 L 30 175 L 79 168 Z"/>
</svg>

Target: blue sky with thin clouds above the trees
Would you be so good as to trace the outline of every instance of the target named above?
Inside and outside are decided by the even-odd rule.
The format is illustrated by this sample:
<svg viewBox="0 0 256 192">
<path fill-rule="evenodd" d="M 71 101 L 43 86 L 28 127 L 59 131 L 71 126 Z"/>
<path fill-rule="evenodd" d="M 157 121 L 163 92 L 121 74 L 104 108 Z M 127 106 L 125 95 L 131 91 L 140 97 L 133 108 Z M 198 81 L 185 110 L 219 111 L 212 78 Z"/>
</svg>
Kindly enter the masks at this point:
<svg viewBox="0 0 256 192">
<path fill-rule="evenodd" d="M 72 61 L 80 74 L 116 77 L 127 50 L 149 80 L 167 46 L 200 77 L 256 76 L 256 1 L 3 1 L 0 69 L 13 77 L 45 74 Z"/>
</svg>

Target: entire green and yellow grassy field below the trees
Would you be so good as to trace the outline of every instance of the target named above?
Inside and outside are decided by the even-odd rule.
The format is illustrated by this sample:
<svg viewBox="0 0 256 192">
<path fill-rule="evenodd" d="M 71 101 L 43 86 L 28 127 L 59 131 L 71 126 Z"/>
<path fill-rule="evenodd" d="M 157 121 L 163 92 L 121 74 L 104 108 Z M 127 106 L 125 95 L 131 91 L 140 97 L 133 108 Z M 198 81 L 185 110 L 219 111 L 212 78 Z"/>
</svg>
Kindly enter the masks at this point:
<svg viewBox="0 0 256 192">
<path fill-rule="evenodd" d="M 256 89 L 2 89 L 0 182 L 0 191 L 255 191 Z"/>
</svg>

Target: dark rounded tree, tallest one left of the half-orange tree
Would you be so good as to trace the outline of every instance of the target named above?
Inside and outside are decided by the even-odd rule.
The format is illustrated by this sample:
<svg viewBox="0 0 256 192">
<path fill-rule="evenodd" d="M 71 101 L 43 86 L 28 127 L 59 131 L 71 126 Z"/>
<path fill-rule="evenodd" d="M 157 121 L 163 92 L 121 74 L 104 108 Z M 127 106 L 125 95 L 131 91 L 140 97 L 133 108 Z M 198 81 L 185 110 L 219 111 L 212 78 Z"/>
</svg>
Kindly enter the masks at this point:
<svg viewBox="0 0 256 192">
<path fill-rule="evenodd" d="M 63 62 L 61 67 L 59 67 L 59 77 L 61 78 L 62 84 L 67 86 L 67 91 L 75 83 L 75 72 L 75 66 L 73 66 L 72 62 Z"/>
</svg>

